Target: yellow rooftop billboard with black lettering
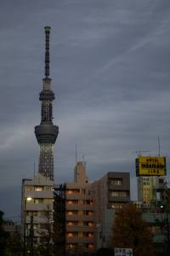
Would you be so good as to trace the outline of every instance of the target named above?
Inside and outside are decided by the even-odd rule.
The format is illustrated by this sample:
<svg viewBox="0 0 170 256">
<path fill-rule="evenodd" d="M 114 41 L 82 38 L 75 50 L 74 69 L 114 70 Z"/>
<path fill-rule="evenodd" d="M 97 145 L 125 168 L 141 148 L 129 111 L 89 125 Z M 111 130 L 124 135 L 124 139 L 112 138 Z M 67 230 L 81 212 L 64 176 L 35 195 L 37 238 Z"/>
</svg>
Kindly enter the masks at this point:
<svg viewBox="0 0 170 256">
<path fill-rule="evenodd" d="M 164 176 L 166 172 L 165 157 L 139 156 L 136 159 L 136 176 Z"/>
</svg>

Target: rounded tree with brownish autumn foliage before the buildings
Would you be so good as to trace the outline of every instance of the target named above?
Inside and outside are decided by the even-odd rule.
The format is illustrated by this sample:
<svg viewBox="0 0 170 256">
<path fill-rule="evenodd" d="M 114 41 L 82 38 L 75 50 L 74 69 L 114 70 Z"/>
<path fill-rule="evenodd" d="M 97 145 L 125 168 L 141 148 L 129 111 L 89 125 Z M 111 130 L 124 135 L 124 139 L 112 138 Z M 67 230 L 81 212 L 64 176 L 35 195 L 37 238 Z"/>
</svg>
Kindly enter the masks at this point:
<svg viewBox="0 0 170 256">
<path fill-rule="evenodd" d="M 132 203 L 116 215 L 111 247 L 133 248 L 133 256 L 155 255 L 150 228 Z"/>
</svg>

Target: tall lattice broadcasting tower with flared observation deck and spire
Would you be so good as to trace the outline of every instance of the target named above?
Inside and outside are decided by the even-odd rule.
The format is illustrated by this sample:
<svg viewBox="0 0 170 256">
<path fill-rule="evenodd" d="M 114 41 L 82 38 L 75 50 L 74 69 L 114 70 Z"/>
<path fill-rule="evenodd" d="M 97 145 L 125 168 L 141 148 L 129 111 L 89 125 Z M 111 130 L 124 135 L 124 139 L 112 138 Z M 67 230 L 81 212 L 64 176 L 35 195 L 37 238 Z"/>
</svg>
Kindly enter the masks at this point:
<svg viewBox="0 0 170 256">
<path fill-rule="evenodd" d="M 41 123 L 35 126 L 37 143 L 40 145 L 39 169 L 43 176 L 54 180 L 54 143 L 58 137 L 59 127 L 53 124 L 54 92 L 51 90 L 49 78 L 49 34 L 50 27 L 45 30 L 45 78 L 39 100 L 42 102 Z"/>
</svg>

